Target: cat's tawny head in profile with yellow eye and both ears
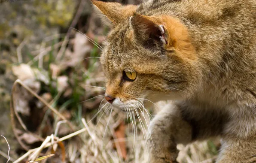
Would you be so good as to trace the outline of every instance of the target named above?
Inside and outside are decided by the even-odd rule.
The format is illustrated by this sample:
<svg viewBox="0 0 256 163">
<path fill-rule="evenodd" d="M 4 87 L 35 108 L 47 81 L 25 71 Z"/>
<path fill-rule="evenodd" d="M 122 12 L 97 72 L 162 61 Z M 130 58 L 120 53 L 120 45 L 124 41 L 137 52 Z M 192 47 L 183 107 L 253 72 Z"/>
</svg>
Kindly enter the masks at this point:
<svg viewBox="0 0 256 163">
<path fill-rule="evenodd" d="M 140 15 L 133 5 L 92 3 L 112 26 L 101 56 L 108 102 L 125 109 L 191 93 L 200 76 L 198 58 L 177 18 Z"/>
</svg>

